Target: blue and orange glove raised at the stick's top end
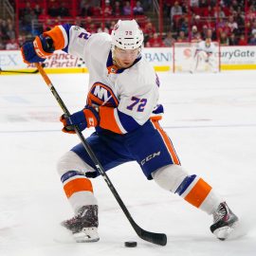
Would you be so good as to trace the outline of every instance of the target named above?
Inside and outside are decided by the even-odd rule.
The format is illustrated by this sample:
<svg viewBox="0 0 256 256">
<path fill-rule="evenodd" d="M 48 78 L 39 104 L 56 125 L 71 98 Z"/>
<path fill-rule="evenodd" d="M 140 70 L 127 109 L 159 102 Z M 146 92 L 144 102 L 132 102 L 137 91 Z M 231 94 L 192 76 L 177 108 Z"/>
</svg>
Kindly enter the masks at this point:
<svg viewBox="0 0 256 256">
<path fill-rule="evenodd" d="M 53 41 L 42 34 L 37 36 L 33 42 L 26 42 L 21 46 L 21 51 L 24 63 L 42 63 L 53 53 Z"/>
</svg>

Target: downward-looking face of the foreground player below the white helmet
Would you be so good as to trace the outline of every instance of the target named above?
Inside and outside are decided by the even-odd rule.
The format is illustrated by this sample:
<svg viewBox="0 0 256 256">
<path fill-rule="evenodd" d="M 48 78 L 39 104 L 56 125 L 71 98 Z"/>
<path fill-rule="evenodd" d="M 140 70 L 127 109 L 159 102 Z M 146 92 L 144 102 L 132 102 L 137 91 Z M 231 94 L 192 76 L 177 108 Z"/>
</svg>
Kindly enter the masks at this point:
<svg viewBox="0 0 256 256">
<path fill-rule="evenodd" d="M 139 49 L 121 49 L 116 47 L 114 50 L 114 59 L 120 68 L 127 68 L 134 64 L 137 59 Z"/>
</svg>

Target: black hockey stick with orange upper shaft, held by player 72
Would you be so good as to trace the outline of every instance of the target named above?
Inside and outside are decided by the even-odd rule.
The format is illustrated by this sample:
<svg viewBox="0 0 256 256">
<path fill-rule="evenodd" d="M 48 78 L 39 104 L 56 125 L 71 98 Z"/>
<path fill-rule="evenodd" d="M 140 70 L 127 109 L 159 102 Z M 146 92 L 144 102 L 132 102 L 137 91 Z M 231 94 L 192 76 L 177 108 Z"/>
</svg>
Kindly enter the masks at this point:
<svg viewBox="0 0 256 256">
<path fill-rule="evenodd" d="M 48 78 L 44 68 L 41 66 L 41 64 L 36 64 L 36 67 L 38 68 L 40 74 L 42 75 L 43 79 L 45 80 L 45 82 L 46 82 L 47 86 L 49 87 L 51 93 L 53 94 L 55 99 L 58 101 L 60 107 L 63 109 L 64 114 L 67 115 L 67 116 L 70 116 L 70 113 L 69 113 L 68 109 L 66 108 L 66 106 L 64 104 L 64 101 L 62 100 L 62 98 L 60 97 L 60 95 L 58 94 L 56 89 L 54 88 L 52 82 L 50 82 L 50 80 L 49 80 L 49 78 Z M 141 239 L 143 239 L 145 241 L 148 241 L 150 243 L 153 243 L 155 245 L 165 246 L 167 244 L 166 234 L 150 232 L 150 231 L 141 229 L 137 225 L 137 223 L 134 221 L 133 217 L 131 216 L 129 210 L 127 210 L 126 206 L 122 202 L 122 200 L 121 200 L 121 198 L 119 196 L 119 193 L 116 191 L 116 189 L 113 186 L 113 184 L 112 184 L 111 180 L 109 179 L 108 175 L 105 173 L 103 167 L 101 166 L 101 162 L 99 161 L 97 156 L 94 154 L 94 152 L 90 148 L 89 144 L 87 143 L 87 141 L 83 137 L 82 132 L 80 131 L 80 129 L 78 128 L 77 125 L 75 126 L 75 131 L 76 131 L 76 134 L 78 135 L 78 137 L 80 137 L 84 149 L 86 150 L 87 154 L 91 157 L 91 159 L 92 159 L 94 165 L 96 166 L 98 172 L 103 177 L 103 179 L 106 182 L 106 184 L 107 184 L 108 188 L 110 189 L 110 191 L 116 197 L 121 210 L 123 211 L 123 213 L 125 214 L 125 216 L 129 220 L 129 222 L 132 225 L 133 229 L 137 232 L 137 235 Z"/>
</svg>

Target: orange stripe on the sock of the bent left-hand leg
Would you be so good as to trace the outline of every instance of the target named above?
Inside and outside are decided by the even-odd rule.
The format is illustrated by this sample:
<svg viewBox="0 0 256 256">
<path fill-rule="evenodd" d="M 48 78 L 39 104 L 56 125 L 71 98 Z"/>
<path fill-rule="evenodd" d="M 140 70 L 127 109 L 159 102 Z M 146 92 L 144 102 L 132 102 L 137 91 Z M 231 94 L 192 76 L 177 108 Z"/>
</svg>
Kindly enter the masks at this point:
<svg viewBox="0 0 256 256">
<path fill-rule="evenodd" d="M 64 192 L 69 198 L 75 192 L 93 192 L 93 187 L 88 178 L 76 178 L 64 185 Z"/>
</svg>

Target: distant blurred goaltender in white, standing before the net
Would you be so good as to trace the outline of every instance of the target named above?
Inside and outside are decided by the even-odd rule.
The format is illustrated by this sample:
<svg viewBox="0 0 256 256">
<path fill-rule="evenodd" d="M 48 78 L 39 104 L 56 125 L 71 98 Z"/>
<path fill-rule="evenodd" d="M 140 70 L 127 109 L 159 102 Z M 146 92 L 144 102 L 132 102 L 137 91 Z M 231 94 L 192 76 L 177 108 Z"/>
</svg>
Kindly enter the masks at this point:
<svg viewBox="0 0 256 256">
<path fill-rule="evenodd" d="M 214 58 L 217 50 L 213 43 L 211 43 L 210 38 L 207 38 L 205 41 L 201 41 L 197 44 L 194 56 L 192 59 L 191 73 L 195 72 L 199 65 L 206 64 L 209 67 L 211 72 L 216 73 L 218 66 Z"/>
</svg>

